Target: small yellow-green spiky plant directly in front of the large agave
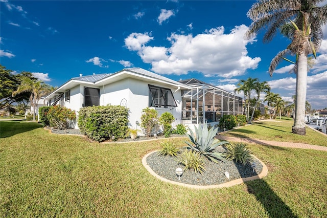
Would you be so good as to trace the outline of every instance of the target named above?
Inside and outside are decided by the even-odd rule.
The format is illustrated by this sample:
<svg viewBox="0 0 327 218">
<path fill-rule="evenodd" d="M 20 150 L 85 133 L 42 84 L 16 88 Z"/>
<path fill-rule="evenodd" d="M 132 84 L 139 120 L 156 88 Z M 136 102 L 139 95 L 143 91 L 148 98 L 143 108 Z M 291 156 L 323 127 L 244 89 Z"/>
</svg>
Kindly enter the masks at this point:
<svg viewBox="0 0 327 218">
<path fill-rule="evenodd" d="M 185 149 L 177 158 L 178 163 L 184 165 L 183 170 L 193 169 L 195 173 L 205 171 L 204 162 L 199 152 Z"/>
</svg>

